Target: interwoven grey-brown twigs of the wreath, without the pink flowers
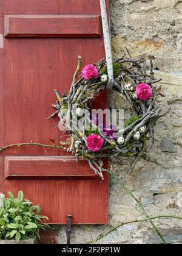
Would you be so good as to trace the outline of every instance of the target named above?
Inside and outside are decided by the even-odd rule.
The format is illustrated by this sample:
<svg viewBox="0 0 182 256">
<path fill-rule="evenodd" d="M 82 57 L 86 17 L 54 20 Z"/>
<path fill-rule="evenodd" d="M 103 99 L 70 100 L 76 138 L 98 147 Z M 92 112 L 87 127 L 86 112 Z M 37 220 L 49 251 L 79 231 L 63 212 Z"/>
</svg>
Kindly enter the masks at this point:
<svg viewBox="0 0 182 256">
<path fill-rule="evenodd" d="M 128 50 L 127 50 L 128 52 Z M 78 77 L 79 71 L 82 66 L 81 56 L 78 56 L 78 65 L 75 73 L 73 74 L 72 85 L 70 86 L 69 93 L 64 93 L 62 96 L 55 90 L 57 102 L 53 104 L 56 108 L 56 112 L 53 113 L 48 119 L 52 118 L 56 114 L 59 114 L 60 122 L 66 129 L 69 129 L 72 135 L 72 145 L 68 144 L 69 149 L 67 151 L 76 155 L 76 161 L 79 158 L 86 158 L 89 162 L 90 168 L 96 172 L 101 179 L 103 179 L 103 173 L 101 171 L 102 161 L 101 158 L 112 158 L 113 155 L 117 156 L 130 156 L 135 155 L 135 160 L 132 163 L 129 174 L 132 173 L 135 168 L 135 164 L 143 156 L 144 143 L 148 136 L 153 141 L 153 126 L 160 118 L 160 108 L 155 107 L 155 101 L 161 94 L 161 87 L 158 89 L 153 86 L 160 79 L 155 79 L 153 72 L 152 58 L 149 57 L 149 69 L 150 73 L 147 73 L 147 61 L 145 59 L 127 59 L 121 57 L 113 62 L 114 81 L 112 90 L 118 91 L 123 94 L 129 104 L 132 107 L 131 120 L 127 120 L 128 123 L 123 130 L 120 131 L 124 137 L 124 143 L 118 144 L 117 138 L 110 138 L 100 127 L 96 128 L 96 133 L 104 139 L 104 146 L 98 152 L 92 152 L 87 149 L 87 136 L 90 135 L 87 132 L 87 127 L 93 127 L 92 120 L 89 117 L 89 126 L 85 127 L 85 124 L 79 124 L 79 120 L 83 116 L 76 114 L 76 109 L 92 110 L 92 100 L 95 96 L 107 88 L 107 81 L 102 82 L 101 77 L 103 74 L 107 74 L 106 60 L 102 59 L 93 64 L 99 71 L 99 76 L 96 79 L 85 80 L 82 75 Z M 141 82 L 148 83 L 152 87 L 153 95 L 149 101 L 140 101 L 136 96 L 136 86 Z M 127 90 L 126 85 L 130 84 L 132 90 Z M 76 106 L 76 109 L 73 109 Z M 74 118 L 76 116 L 76 122 L 78 121 L 78 129 L 73 130 Z M 86 118 L 86 117 L 85 117 Z M 87 118 L 88 119 L 88 118 Z M 87 120 L 88 121 L 88 120 Z M 94 124 L 95 125 L 95 124 Z M 140 139 L 133 141 L 133 135 L 140 130 L 141 127 L 146 127 L 146 131 L 140 134 Z M 91 128 L 92 130 L 92 128 Z M 92 131 L 91 133 L 95 133 Z M 75 142 L 79 148 L 75 146 Z M 133 146 L 134 145 L 134 146 Z"/>
</svg>

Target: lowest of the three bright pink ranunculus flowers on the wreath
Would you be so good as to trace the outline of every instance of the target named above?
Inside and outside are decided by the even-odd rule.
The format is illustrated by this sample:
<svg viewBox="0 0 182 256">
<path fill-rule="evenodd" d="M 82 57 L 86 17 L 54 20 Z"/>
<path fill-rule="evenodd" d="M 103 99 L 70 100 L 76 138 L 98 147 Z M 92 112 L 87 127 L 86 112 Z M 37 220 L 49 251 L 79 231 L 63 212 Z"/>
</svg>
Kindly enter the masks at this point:
<svg viewBox="0 0 182 256">
<path fill-rule="evenodd" d="M 93 152 L 99 151 L 104 144 L 103 138 L 98 134 L 92 133 L 87 137 L 87 149 L 90 149 Z"/>
</svg>

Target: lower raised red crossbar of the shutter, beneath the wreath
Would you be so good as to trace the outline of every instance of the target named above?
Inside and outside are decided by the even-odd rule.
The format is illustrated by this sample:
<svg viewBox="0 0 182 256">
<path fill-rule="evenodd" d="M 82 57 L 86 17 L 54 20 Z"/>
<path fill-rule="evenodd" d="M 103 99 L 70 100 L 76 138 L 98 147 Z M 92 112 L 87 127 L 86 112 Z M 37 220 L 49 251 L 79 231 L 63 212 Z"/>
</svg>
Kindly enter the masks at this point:
<svg viewBox="0 0 182 256">
<path fill-rule="evenodd" d="M 5 157 L 5 179 L 99 179 L 86 160 L 75 157 Z"/>
</svg>

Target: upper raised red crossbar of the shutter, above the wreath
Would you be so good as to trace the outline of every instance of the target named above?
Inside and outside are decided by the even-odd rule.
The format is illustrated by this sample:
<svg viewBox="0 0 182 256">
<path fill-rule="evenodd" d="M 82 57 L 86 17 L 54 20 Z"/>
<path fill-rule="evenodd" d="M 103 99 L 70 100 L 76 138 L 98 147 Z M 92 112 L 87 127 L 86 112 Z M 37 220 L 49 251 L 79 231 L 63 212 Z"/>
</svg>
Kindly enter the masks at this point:
<svg viewBox="0 0 182 256">
<path fill-rule="evenodd" d="M 5 15 L 5 37 L 100 37 L 101 15 Z"/>
</svg>

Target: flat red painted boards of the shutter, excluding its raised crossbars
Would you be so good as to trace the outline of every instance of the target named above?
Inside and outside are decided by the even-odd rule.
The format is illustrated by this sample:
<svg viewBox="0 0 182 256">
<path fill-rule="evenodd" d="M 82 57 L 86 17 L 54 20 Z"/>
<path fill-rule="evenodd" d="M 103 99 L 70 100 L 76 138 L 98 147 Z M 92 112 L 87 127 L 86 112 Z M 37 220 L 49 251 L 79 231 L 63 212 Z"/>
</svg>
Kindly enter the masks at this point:
<svg viewBox="0 0 182 256">
<path fill-rule="evenodd" d="M 4 34 L 4 15 L 100 15 L 100 9 L 99 1 L 95 0 L 0 0 L 0 34 Z M 51 144 L 50 138 L 56 144 L 66 140 L 67 136 L 58 130 L 58 117 L 50 121 L 47 117 L 53 112 L 51 104 L 56 99 L 53 89 L 60 93 L 69 91 L 78 54 L 83 57 L 83 65 L 102 59 L 103 35 L 101 38 L 4 38 L 4 49 L 0 49 L 0 148 L 30 141 Z M 107 91 L 95 99 L 93 107 L 107 107 Z M 24 191 L 25 198 L 41 205 L 50 223 L 65 224 L 66 215 L 73 215 L 74 224 L 107 224 L 107 174 L 104 180 L 4 178 L 4 157 L 59 155 L 68 156 L 62 150 L 38 146 L 0 152 L 0 190 L 6 194 Z M 75 162 L 73 168 L 76 166 Z M 33 173 L 35 168 L 30 167 L 29 171 Z M 50 168 L 50 176 L 55 172 L 56 169 Z"/>
</svg>

